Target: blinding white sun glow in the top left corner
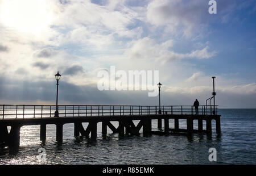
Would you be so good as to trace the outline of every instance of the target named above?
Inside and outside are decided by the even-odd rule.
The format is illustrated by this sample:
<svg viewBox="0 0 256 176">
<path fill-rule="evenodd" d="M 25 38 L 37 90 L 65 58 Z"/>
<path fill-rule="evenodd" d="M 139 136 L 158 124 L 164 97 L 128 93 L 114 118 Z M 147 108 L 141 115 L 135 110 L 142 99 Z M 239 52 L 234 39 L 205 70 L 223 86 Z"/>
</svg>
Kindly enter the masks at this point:
<svg viewBox="0 0 256 176">
<path fill-rule="evenodd" d="M 44 0 L 3 0 L 0 3 L 1 23 L 19 32 L 38 36 L 51 19 L 51 11 Z"/>
</svg>

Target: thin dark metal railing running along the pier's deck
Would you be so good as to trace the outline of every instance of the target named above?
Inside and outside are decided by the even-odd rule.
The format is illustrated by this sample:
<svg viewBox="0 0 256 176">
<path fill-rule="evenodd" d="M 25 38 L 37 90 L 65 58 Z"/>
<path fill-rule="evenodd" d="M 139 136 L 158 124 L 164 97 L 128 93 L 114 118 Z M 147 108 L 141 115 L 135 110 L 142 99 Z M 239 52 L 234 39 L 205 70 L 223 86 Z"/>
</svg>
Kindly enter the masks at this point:
<svg viewBox="0 0 256 176">
<path fill-rule="evenodd" d="M 161 106 L 162 114 L 195 115 L 193 106 Z M 60 105 L 59 117 L 115 116 L 115 115 L 156 115 L 159 106 L 133 105 Z M 0 119 L 53 118 L 53 105 L 0 105 Z M 214 115 L 214 106 L 199 106 L 199 115 Z M 217 114 L 217 105 L 215 106 Z"/>
</svg>

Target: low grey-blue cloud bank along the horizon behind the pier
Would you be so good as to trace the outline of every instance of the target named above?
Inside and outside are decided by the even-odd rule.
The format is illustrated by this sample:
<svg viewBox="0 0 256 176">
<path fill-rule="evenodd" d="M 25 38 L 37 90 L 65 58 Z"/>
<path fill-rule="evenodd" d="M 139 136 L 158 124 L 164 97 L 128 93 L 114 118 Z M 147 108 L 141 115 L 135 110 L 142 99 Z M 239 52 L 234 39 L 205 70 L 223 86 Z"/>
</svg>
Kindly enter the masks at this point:
<svg viewBox="0 0 256 176">
<path fill-rule="evenodd" d="M 97 85 L 77 86 L 64 81 L 59 82 L 59 104 L 114 104 L 114 105 L 158 105 L 159 97 L 148 97 L 148 91 L 99 91 Z M 197 98 L 200 104 L 205 104 L 205 99 L 210 93 L 170 93 L 162 91 L 162 105 L 192 105 Z M 256 107 L 256 94 L 236 94 L 218 91 L 216 104 L 221 108 L 246 108 Z M 49 81 L 19 81 L 0 77 L 0 104 L 3 100 L 23 102 L 48 101 L 55 103 L 56 82 Z"/>
</svg>

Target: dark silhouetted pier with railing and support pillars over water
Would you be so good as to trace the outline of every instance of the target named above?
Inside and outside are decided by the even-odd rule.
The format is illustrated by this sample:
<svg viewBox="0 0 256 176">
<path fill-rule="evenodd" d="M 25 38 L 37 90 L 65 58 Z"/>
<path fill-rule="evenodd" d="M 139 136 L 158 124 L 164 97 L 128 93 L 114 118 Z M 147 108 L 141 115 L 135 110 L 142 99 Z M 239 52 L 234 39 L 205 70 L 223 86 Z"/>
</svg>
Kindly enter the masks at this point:
<svg viewBox="0 0 256 176">
<path fill-rule="evenodd" d="M 56 116 L 55 111 L 59 114 Z M 63 125 L 74 124 L 74 136 L 85 136 L 91 140 L 97 139 L 97 124 L 101 122 L 102 135 L 107 129 L 119 136 L 143 136 L 164 133 L 205 132 L 212 134 L 212 120 L 216 121 L 216 133 L 221 132 L 220 115 L 217 115 L 217 105 L 199 106 L 199 114 L 195 114 L 193 106 L 127 106 L 127 105 L 0 105 L 0 144 L 1 146 L 19 146 L 20 128 L 24 125 L 40 125 L 40 140 L 46 141 L 46 125 L 56 125 L 56 141 L 63 141 Z M 174 128 L 170 128 L 170 119 L 174 120 Z M 180 120 L 187 121 L 187 128 L 180 128 Z M 134 121 L 139 123 L 135 125 Z M 158 131 L 152 131 L 152 120 L 158 121 Z M 114 127 L 113 121 L 118 121 Z M 197 121 L 197 129 L 195 129 Z M 203 121 L 206 127 L 203 128 Z M 84 128 L 82 123 L 88 123 Z M 7 127 L 11 127 L 10 132 Z"/>
</svg>

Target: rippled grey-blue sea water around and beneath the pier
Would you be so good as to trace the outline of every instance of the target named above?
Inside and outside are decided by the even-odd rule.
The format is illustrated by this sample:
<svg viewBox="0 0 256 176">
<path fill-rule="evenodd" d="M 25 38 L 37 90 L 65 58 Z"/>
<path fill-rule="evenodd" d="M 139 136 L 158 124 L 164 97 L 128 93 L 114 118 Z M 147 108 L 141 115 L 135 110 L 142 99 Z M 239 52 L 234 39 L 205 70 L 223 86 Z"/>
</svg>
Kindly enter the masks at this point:
<svg viewBox="0 0 256 176">
<path fill-rule="evenodd" d="M 119 138 L 108 129 L 108 136 L 102 139 L 98 123 L 97 141 L 91 142 L 75 139 L 73 124 L 65 124 L 63 144 L 59 146 L 55 141 L 55 125 L 47 125 L 45 144 L 39 140 L 39 125 L 26 126 L 20 131 L 18 151 L 0 149 L 0 164 L 256 164 L 256 109 L 223 109 L 219 114 L 221 135 L 216 135 L 213 120 L 212 137 L 196 133 Z M 153 121 L 153 130 L 156 125 Z M 180 125 L 185 128 L 185 121 Z M 170 127 L 174 127 L 171 120 Z M 44 162 L 37 158 L 42 147 L 46 149 Z M 208 150 L 212 147 L 217 150 L 216 162 L 208 160 Z"/>
</svg>

